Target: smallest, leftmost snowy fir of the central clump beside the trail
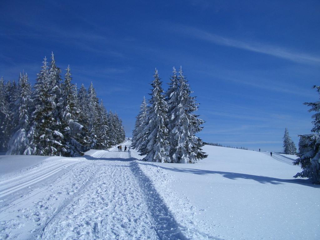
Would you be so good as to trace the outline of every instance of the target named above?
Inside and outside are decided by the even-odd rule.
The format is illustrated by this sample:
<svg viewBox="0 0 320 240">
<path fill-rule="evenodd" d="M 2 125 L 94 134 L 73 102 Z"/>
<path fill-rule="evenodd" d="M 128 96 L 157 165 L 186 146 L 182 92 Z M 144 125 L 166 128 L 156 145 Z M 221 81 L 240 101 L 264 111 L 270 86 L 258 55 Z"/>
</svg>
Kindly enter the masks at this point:
<svg viewBox="0 0 320 240">
<path fill-rule="evenodd" d="M 134 130 L 132 131 L 132 148 L 139 149 L 141 142 L 143 142 L 143 136 L 145 133 L 143 129 L 147 125 L 147 101 L 146 98 L 143 97 L 142 103 L 140 105 L 140 112 L 136 116 L 136 123 L 134 126 Z"/>
</svg>

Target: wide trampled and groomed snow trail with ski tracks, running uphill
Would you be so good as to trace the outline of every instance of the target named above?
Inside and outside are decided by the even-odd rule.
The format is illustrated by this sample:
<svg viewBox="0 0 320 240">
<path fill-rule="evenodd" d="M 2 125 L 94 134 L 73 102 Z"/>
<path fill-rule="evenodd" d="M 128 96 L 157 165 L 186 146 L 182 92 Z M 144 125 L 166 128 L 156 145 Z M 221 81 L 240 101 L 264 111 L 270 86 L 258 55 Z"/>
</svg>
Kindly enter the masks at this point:
<svg viewBox="0 0 320 240">
<path fill-rule="evenodd" d="M 3 195 L 19 192 L 20 187 L 68 167 L 52 184 L 23 196 L 25 201 L 0 209 L 0 238 L 187 239 L 131 157 L 130 147 L 127 150 L 124 146 L 122 152 L 116 147 L 92 150 L 84 156 L 86 160 L 39 171 L 39 176 L 2 190 Z"/>
</svg>

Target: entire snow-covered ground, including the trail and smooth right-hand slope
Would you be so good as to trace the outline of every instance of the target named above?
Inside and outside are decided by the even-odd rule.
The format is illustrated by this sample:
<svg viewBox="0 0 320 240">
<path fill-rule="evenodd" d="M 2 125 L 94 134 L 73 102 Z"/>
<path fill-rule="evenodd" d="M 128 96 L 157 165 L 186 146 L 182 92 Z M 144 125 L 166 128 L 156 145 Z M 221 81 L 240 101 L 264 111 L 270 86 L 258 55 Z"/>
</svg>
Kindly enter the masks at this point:
<svg viewBox="0 0 320 240">
<path fill-rule="evenodd" d="M 295 156 L 205 146 L 200 163 L 160 164 L 128 149 L 0 156 L 0 239 L 320 239 L 320 186 L 292 178 Z"/>
</svg>

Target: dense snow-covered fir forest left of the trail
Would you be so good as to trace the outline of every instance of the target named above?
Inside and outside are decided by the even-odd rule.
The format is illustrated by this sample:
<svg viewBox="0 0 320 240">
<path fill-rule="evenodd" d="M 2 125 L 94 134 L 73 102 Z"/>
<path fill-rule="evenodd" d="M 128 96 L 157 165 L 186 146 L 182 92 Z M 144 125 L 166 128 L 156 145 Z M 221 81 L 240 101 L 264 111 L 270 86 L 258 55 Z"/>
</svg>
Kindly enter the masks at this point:
<svg viewBox="0 0 320 240">
<path fill-rule="evenodd" d="M 0 151 L 7 154 L 81 156 L 124 141 L 122 120 L 107 112 L 91 83 L 80 89 L 64 75 L 54 55 L 31 87 L 27 73 L 19 81 L 0 80 Z"/>
</svg>

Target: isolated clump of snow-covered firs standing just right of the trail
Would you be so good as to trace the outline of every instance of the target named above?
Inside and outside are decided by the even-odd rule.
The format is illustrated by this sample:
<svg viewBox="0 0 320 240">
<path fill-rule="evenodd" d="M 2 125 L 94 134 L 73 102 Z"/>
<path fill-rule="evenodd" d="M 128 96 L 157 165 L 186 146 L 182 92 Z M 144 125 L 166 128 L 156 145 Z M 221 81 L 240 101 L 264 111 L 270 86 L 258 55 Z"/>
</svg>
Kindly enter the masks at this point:
<svg viewBox="0 0 320 240">
<path fill-rule="evenodd" d="M 132 133 L 132 147 L 143 159 L 161 163 L 196 163 L 207 157 L 203 141 L 196 137 L 204 121 L 194 113 L 198 109 L 195 97 L 180 68 L 173 68 L 169 88 L 164 93 L 158 71 L 151 83 L 149 105 L 143 98 Z"/>
</svg>

